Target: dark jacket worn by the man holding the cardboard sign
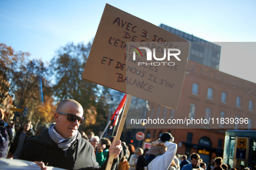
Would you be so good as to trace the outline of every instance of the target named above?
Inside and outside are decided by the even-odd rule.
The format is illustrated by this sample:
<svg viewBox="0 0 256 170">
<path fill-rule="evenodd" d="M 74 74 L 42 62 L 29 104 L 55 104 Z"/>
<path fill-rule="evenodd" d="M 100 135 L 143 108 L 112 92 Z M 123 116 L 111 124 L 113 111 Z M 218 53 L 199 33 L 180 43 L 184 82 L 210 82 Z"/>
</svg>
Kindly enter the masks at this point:
<svg viewBox="0 0 256 170">
<path fill-rule="evenodd" d="M 19 159 L 26 161 L 42 161 L 47 166 L 58 167 L 68 170 L 105 170 L 107 160 L 100 168 L 96 162 L 94 148 L 90 142 L 81 137 L 63 151 L 52 141 L 48 128 L 42 130 L 42 134 L 32 136 L 23 145 Z M 117 159 L 114 159 L 111 170 L 116 167 Z"/>
</svg>

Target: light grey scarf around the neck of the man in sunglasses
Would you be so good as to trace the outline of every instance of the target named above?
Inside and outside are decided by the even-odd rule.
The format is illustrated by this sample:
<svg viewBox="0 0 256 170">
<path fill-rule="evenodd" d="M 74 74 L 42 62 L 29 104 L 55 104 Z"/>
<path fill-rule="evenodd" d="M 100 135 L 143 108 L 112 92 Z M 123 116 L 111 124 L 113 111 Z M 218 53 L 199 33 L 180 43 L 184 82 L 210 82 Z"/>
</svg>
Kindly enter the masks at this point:
<svg viewBox="0 0 256 170">
<path fill-rule="evenodd" d="M 48 132 L 51 139 L 53 140 L 53 142 L 58 144 L 58 147 L 61 148 L 63 151 L 67 150 L 72 145 L 72 143 L 75 142 L 75 140 L 77 139 L 78 132 L 73 137 L 65 139 L 55 131 L 54 127 L 55 123 L 52 123 L 49 127 Z"/>
</svg>

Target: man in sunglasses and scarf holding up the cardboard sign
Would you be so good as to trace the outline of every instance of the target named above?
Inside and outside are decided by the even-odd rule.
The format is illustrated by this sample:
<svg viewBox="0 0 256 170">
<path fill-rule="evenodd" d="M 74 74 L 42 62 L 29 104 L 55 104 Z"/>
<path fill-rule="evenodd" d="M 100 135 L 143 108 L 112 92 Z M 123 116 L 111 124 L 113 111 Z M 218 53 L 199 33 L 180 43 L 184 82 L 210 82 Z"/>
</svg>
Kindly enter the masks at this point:
<svg viewBox="0 0 256 170">
<path fill-rule="evenodd" d="M 29 138 L 19 159 L 34 161 L 41 169 L 48 165 L 68 170 L 105 170 L 108 156 L 100 167 L 94 148 L 78 132 L 79 125 L 84 121 L 83 113 L 83 107 L 77 101 L 61 101 L 54 114 L 55 123 L 43 129 L 41 134 Z M 108 155 L 114 155 L 111 170 L 115 168 L 121 150 L 120 140 L 109 148 Z"/>
</svg>

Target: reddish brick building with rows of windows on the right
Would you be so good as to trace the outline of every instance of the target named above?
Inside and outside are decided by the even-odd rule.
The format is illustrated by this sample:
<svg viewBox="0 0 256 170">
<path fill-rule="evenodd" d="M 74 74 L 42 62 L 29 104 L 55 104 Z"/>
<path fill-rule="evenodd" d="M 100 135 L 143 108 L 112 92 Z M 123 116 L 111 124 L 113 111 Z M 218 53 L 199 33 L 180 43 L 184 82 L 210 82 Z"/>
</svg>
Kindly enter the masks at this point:
<svg viewBox="0 0 256 170">
<path fill-rule="evenodd" d="M 163 132 L 171 132 L 178 144 L 177 154 L 197 152 L 205 163 L 211 158 L 223 156 L 227 129 L 252 129 L 255 120 L 253 103 L 256 100 L 256 84 L 217 69 L 188 60 L 185 79 L 177 110 L 171 110 L 149 102 L 150 119 L 214 119 L 204 125 L 151 124 L 145 129 L 146 141 L 152 142 Z M 245 123 L 217 123 L 217 119 L 247 118 Z"/>
</svg>

